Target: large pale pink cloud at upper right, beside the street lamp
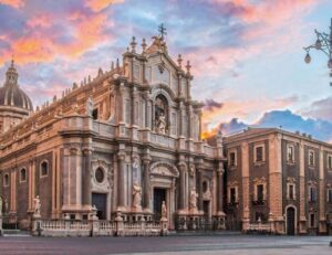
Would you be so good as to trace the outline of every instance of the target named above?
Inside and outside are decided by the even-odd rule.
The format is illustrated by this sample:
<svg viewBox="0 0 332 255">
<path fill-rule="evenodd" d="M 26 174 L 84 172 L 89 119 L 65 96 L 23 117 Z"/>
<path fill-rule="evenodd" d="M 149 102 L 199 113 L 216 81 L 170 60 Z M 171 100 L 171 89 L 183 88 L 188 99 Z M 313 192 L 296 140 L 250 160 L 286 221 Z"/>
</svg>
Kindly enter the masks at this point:
<svg viewBox="0 0 332 255">
<path fill-rule="evenodd" d="M 312 10 L 314 0 L 270 0 L 252 3 L 249 0 L 209 0 L 216 9 L 229 10 L 232 17 L 245 24 L 240 34 L 242 43 L 228 47 L 214 46 L 194 50 L 186 57 L 193 61 L 195 75 L 211 76 L 231 71 L 238 62 L 243 62 L 262 52 L 278 54 L 288 52 L 303 42 L 301 30 L 303 13 Z"/>
</svg>

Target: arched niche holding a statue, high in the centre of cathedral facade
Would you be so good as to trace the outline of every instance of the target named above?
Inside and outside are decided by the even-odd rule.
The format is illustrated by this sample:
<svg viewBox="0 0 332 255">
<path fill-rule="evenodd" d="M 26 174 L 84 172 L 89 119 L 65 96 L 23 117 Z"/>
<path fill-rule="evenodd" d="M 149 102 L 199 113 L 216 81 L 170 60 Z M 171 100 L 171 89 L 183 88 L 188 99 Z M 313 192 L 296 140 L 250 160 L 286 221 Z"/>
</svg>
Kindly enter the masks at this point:
<svg viewBox="0 0 332 255">
<path fill-rule="evenodd" d="M 168 103 L 164 95 L 158 95 L 155 100 L 155 130 L 159 134 L 168 132 Z"/>
</svg>

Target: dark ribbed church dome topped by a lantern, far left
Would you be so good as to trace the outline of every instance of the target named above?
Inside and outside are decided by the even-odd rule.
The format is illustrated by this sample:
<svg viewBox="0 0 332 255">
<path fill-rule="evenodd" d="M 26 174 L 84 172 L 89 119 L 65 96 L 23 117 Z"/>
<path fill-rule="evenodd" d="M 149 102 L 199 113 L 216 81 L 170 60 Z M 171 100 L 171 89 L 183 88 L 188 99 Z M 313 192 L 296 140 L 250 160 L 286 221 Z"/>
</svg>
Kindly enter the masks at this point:
<svg viewBox="0 0 332 255">
<path fill-rule="evenodd" d="M 0 107 L 12 106 L 29 111 L 33 110 L 33 106 L 29 96 L 19 87 L 19 74 L 14 67 L 13 61 L 6 72 L 6 82 L 3 87 L 0 87 Z"/>
</svg>

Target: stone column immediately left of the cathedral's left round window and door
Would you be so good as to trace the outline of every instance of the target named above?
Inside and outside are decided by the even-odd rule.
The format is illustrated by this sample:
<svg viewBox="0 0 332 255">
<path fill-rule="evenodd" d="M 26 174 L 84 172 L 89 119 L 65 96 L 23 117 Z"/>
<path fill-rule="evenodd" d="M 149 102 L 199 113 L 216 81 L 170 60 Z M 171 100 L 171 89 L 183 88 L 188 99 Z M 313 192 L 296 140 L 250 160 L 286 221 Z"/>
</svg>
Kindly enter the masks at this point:
<svg viewBox="0 0 332 255">
<path fill-rule="evenodd" d="M 92 149 L 85 148 L 83 149 L 83 160 L 82 160 L 82 180 L 83 180 L 83 200 L 82 203 L 84 205 L 91 206 L 91 157 Z"/>
</svg>

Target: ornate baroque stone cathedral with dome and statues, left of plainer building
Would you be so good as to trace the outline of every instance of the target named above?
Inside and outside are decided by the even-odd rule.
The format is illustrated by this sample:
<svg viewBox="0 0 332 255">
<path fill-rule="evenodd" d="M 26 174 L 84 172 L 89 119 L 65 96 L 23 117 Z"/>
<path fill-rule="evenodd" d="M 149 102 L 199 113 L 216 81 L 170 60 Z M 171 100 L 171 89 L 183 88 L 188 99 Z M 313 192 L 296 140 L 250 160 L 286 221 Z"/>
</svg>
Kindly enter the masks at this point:
<svg viewBox="0 0 332 255">
<path fill-rule="evenodd" d="M 42 219 L 89 220 L 95 206 L 100 220 L 158 221 L 165 201 L 168 229 L 224 220 L 226 158 L 221 138 L 200 138 L 190 63 L 174 61 L 163 36 L 141 50 L 133 38 L 122 62 L 35 111 L 11 64 L 0 91 L 3 215 L 29 225 L 38 198 Z"/>
</svg>

